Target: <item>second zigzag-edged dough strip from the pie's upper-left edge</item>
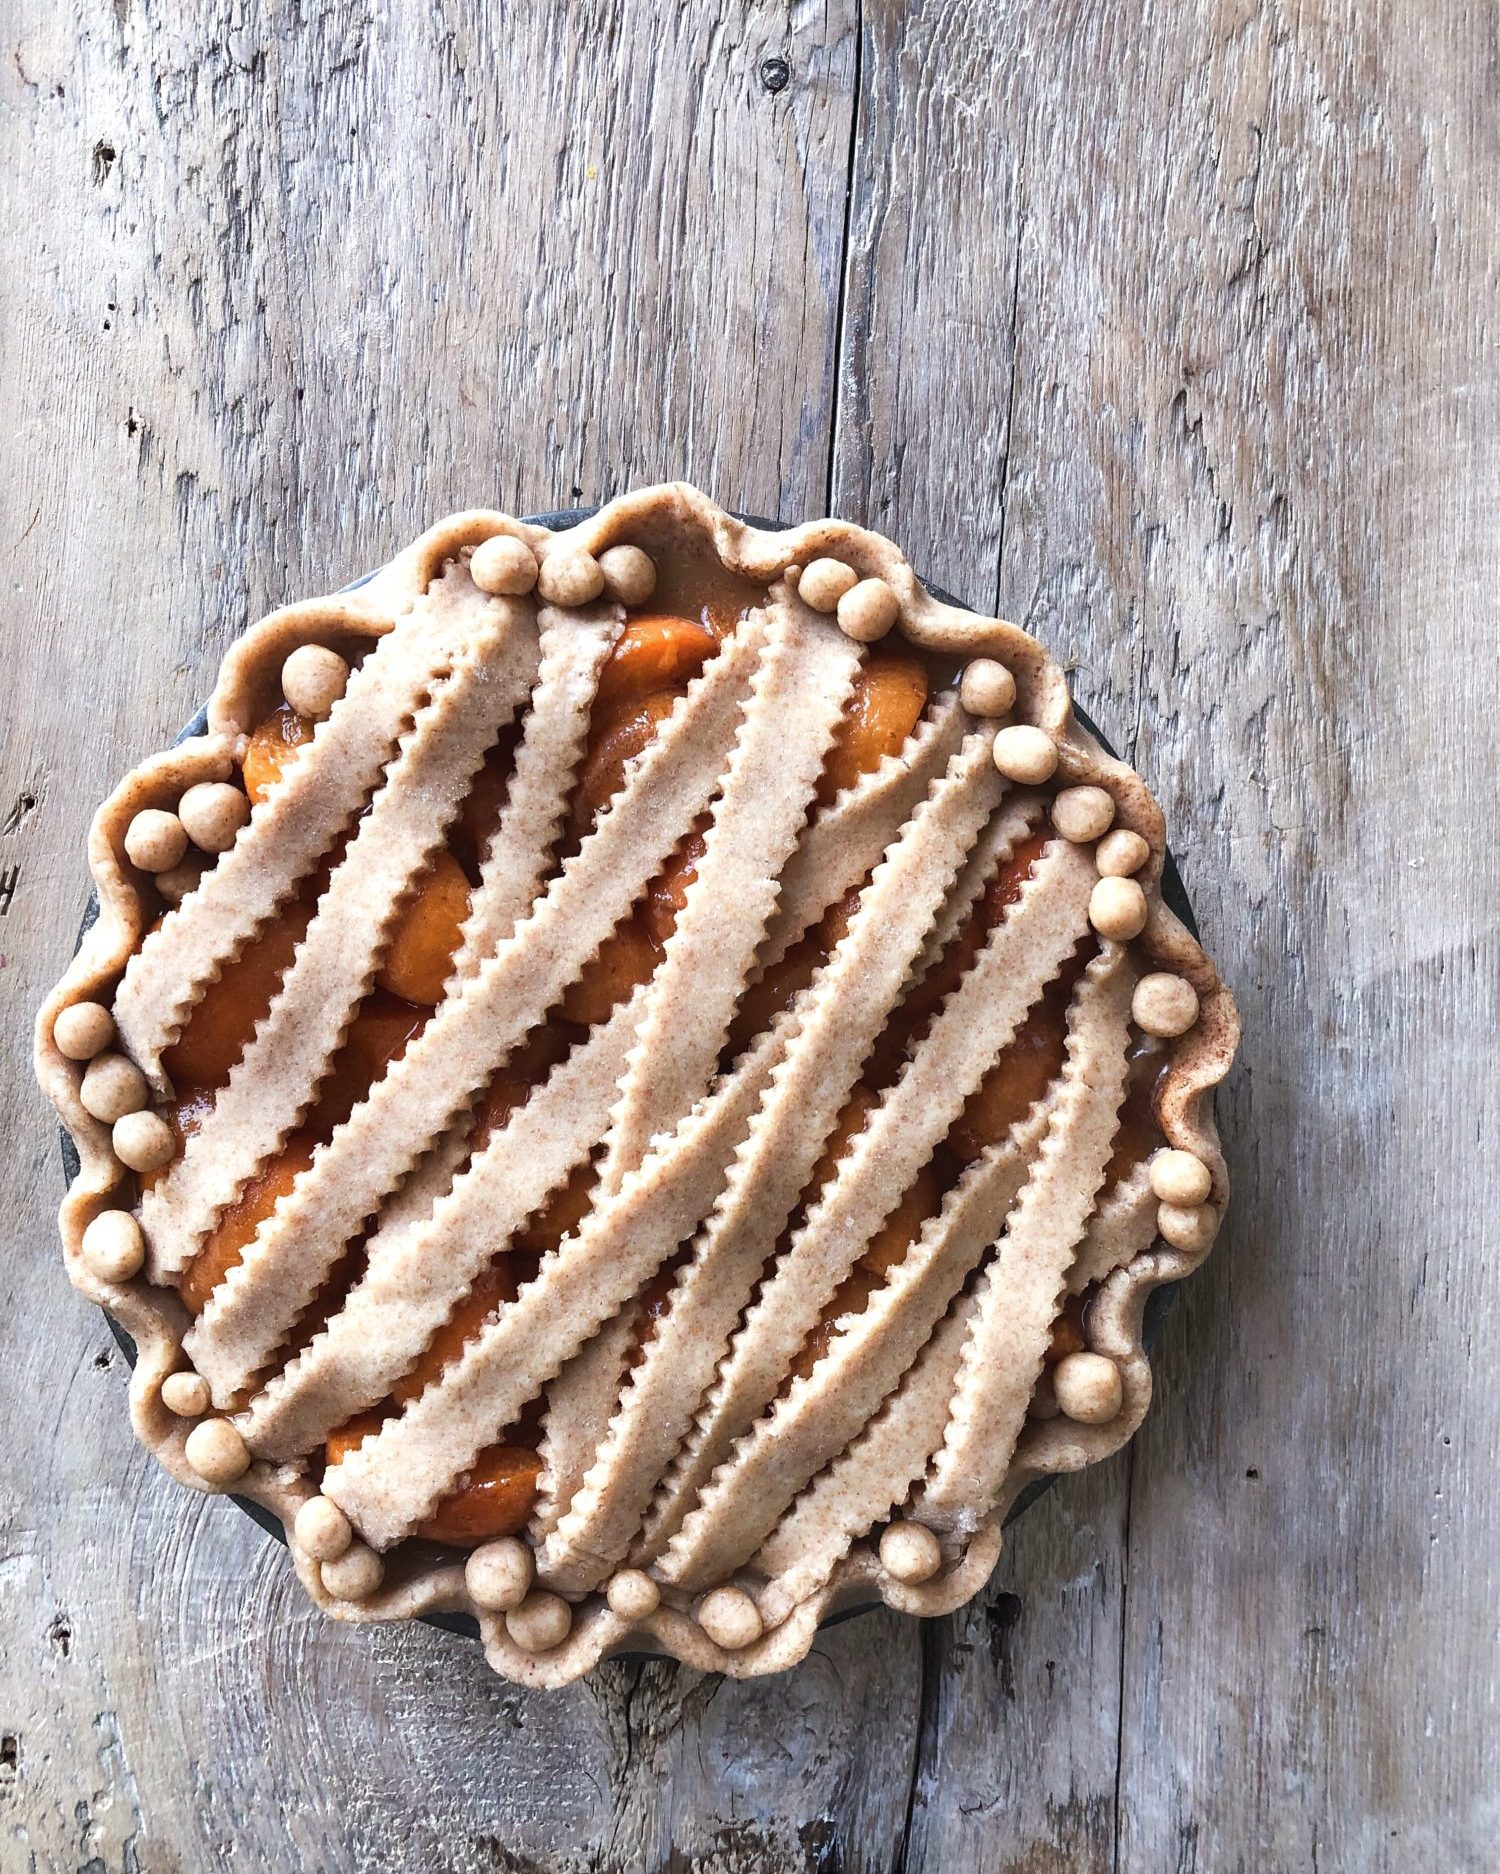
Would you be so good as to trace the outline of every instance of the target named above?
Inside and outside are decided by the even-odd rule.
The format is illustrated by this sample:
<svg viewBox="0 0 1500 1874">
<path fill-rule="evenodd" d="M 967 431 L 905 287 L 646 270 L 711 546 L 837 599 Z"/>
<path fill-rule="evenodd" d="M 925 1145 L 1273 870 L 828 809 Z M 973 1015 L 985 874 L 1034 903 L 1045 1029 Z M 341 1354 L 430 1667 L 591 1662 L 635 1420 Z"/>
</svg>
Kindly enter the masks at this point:
<svg viewBox="0 0 1500 1874">
<path fill-rule="evenodd" d="M 486 748 L 531 690 L 529 611 L 501 603 L 474 620 L 452 675 L 398 742 L 386 785 L 360 821 L 308 935 L 229 1085 L 141 1207 L 146 1237 L 184 1267 L 214 1218 L 272 1158 L 309 1108 L 369 991 L 398 907 L 442 840 Z"/>
</svg>

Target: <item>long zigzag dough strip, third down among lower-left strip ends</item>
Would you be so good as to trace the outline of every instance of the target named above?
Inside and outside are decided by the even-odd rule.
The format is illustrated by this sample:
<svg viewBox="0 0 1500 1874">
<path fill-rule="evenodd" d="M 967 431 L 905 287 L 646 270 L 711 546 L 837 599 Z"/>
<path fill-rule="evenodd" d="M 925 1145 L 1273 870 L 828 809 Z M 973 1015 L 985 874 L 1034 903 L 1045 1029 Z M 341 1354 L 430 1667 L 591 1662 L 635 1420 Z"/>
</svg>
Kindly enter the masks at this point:
<svg viewBox="0 0 1500 1874">
<path fill-rule="evenodd" d="M 532 915 L 458 986 L 369 1098 L 322 1145 L 231 1269 L 193 1329 L 193 1359 L 227 1404 L 259 1374 L 343 1244 L 574 982 L 718 785 L 754 618 L 703 669 Z M 630 883 L 609 886 L 624 877 Z"/>
</svg>

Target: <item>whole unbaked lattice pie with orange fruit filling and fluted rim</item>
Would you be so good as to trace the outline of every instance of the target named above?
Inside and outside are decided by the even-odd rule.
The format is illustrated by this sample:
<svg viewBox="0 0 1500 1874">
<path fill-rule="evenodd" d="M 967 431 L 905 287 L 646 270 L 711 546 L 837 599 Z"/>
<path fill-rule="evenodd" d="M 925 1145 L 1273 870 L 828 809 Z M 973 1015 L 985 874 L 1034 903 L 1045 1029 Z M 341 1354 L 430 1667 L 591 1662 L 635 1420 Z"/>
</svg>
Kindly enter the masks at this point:
<svg viewBox="0 0 1500 1874">
<path fill-rule="evenodd" d="M 949 1612 L 1222 1216 L 1162 862 L 1042 647 L 848 523 L 461 513 L 272 613 L 38 1018 L 139 1435 L 519 1683 Z"/>
</svg>

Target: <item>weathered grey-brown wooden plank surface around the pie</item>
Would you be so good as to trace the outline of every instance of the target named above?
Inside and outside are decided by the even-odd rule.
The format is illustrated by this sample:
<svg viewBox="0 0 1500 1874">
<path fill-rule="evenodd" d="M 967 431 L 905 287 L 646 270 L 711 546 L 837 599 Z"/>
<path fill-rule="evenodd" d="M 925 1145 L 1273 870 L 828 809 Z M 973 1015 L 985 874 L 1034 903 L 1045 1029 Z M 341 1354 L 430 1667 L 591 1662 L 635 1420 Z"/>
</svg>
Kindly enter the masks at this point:
<svg viewBox="0 0 1500 1874">
<path fill-rule="evenodd" d="M 0 1868 L 1494 1867 L 1492 7 L 4 34 Z M 30 1012 L 248 620 L 669 476 L 1076 662 L 1241 997 L 1236 1203 L 1134 1449 L 964 1614 L 532 1696 L 324 1623 L 133 1447 Z"/>
</svg>

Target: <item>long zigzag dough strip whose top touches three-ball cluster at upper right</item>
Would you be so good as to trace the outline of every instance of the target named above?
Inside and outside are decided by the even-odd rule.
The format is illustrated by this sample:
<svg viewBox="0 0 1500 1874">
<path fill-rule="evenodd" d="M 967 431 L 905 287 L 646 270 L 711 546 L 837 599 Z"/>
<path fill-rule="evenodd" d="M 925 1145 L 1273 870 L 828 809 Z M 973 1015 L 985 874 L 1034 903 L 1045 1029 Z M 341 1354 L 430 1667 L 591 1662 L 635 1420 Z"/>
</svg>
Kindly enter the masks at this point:
<svg viewBox="0 0 1500 1874">
<path fill-rule="evenodd" d="M 996 860 L 1009 855 L 1029 825 L 1026 810 L 998 817 L 1009 823 L 1009 836 Z M 733 1439 L 774 1398 L 789 1361 L 864 1244 L 911 1188 L 990 1063 L 1088 930 L 1095 879 L 1089 855 L 1076 845 L 1054 840 L 1042 851 L 761 1287 L 698 1415 L 692 1458 L 673 1475 L 681 1501 L 698 1495 Z"/>
</svg>

